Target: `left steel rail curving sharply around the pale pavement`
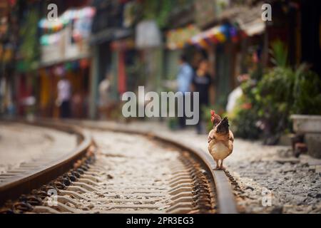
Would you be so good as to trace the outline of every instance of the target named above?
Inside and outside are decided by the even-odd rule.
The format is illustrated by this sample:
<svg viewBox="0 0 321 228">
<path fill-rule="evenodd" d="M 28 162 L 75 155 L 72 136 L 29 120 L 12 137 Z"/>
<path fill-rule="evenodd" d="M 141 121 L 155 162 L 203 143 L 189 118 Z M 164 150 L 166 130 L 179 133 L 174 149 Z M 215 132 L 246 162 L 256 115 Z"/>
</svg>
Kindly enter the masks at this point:
<svg viewBox="0 0 321 228">
<path fill-rule="evenodd" d="M 8 121 L 8 120 L 6 120 Z M 14 120 L 9 120 L 14 121 Z M 63 173 L 73 167 L 73 164 L 84 157 L 88 148 L 93 141 L 91 135 L 75 125 L 66 123 L 44 122 L 44 121 L 27 121 L 15 120 L 15 122 L 38 125 L 46 128 L 55 128 L 68 133 L 78 135 L 78 145 L 68 155 L 58 157 L 57 160 L 49 161 L 45 165 L 41 165 L 34 170 L 24 172 L 23 174 L 14 175 L 11 178 L 0 182 L 0 205 L 4 204 L 8 199 L 16 199 L 22 194 L 28 194 L 31 190 L 41 187 L 51 180 L 55 180 Z"/>
</svg>

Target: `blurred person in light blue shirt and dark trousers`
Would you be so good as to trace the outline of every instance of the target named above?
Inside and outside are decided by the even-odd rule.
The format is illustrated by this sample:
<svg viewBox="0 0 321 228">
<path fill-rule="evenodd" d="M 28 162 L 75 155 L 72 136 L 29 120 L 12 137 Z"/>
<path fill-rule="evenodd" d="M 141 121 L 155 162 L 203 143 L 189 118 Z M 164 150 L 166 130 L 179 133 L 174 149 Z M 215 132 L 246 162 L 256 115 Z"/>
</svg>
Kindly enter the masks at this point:
<svg viewBox="0 0 321 228">
<path fill-rule="evenodd" d="M 188 64 L 185 55 L 180 56 L 180 68 L 177 76 L 178 92 L 182 92 L 183 95 L 183 110 L 185 110 L 185 93 L 190 92 L 190 86 L 193 79 L 193 68 Z M 180 128 L 185 128 L 185 112 L 183 117 L 178 117 Z"/>
</svg>

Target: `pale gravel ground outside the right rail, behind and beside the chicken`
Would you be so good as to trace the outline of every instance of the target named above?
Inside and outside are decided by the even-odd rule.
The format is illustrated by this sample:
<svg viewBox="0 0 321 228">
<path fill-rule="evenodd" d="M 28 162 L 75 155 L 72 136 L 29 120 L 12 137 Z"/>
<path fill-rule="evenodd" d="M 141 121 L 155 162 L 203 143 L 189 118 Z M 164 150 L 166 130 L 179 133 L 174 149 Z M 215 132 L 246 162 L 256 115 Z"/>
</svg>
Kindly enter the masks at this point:
<svg viewBox="0 0 321 228">
<path fill-rule="evenodd" d="M 197 135 L 193 129 L 170 131 L 166 125 L 150 122 L 128 127 L 157 131 L 207 151 L 207 135 Z M 321 160 L 307 155 L 296 159 L 289 147 L 236 138 L 225 166 L 240 185 L 235 195 L 242 212 L 321 213 Z"/>
</svg>

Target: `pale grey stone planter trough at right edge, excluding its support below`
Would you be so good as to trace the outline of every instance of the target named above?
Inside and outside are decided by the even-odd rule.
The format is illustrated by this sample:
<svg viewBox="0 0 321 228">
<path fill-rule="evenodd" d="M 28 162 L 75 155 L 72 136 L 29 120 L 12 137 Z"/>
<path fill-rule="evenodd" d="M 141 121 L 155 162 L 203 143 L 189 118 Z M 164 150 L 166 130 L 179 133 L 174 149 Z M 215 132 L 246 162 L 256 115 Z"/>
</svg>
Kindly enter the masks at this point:
<svg viewBox="0 0 321 228">
<path fill-rule="evenodd" d="M 321 115 L 291 115 L 296 133 L 320 133 Z"/>
</svg>

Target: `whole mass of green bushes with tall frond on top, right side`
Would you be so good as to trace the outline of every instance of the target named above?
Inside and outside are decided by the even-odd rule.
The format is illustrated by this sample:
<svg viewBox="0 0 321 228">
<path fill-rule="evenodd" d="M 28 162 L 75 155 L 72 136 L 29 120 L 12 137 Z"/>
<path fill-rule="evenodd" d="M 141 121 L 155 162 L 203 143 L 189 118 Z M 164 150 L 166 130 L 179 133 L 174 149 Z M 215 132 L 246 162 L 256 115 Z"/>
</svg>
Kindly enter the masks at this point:
<svg viewBox="0 0 321 228">
<path fill-rule="evenodd" d="M 305 64 L 287 66 L 287 48 L 281 41 L 272 43 L 272 53 L 276 66 L 241 85 L 243 96 L 230 114 L 235 135 L 257 138 L 262 132 L 266 144 L 275 144 L 291 130 L 291 114 L 321 115 L 320 76 Z"/>
</svg>

